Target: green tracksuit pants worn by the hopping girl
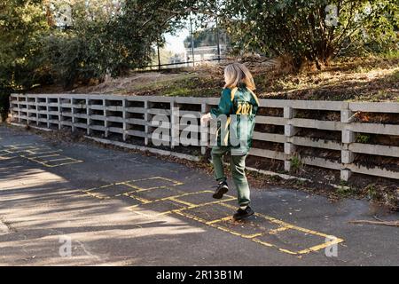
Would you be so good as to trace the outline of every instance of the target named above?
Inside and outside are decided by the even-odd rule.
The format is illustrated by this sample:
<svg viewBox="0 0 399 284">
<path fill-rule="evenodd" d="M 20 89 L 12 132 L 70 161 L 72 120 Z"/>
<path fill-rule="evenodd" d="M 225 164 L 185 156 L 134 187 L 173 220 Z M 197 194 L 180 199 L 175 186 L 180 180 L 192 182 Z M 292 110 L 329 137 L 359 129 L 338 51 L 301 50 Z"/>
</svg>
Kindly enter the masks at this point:
<svg viewBox="0 0 399 284">
<path fill-rule="evenodd" d="M 212 163 L 215 170 L 215 179 L 217 181 L 226 180 L 223 170 L 223 155 L 231 150 L 229 146 L 214 146 L 212 148 Z M 250 200 L 249 185 L 246 180 L 246 154 L 231 155 L 231 177 L 236 185 L 239 206 L 248 205 Z"/>
</svg>

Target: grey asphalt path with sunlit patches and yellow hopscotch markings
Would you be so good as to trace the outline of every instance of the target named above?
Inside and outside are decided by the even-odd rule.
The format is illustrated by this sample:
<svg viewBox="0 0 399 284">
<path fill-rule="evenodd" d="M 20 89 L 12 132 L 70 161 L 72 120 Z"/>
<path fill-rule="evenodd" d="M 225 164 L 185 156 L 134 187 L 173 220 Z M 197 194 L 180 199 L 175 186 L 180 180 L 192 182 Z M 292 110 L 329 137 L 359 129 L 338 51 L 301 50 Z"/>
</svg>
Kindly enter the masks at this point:
<svg viewBox="0 0 399 284">
<path fill-rule="evenodd" d="M 253 189 L 256 216 L 235 223 L 236 193 L 215 201 L 213 185 L 184 165 L 1 126 L 0 264 L 399 264 L 399 229 L 348 224 L 372 219 L 366 201 Z"/>
</svg>

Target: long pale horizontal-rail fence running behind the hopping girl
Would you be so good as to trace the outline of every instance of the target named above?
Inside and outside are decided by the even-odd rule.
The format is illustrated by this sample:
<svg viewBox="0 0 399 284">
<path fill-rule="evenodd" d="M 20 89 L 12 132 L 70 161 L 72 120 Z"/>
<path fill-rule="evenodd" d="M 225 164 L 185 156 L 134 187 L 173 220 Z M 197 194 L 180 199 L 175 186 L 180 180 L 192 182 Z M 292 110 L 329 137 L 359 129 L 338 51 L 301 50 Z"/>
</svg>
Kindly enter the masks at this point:
<svg viewBox="0 0 399 284">
<path fill-rule="evenodd" d="M 168 115 L 171 122 L 177 119 L 176 115 L 184 114 L 200 119 L 200 114 L 205 114 L 218 102 L 217 98 L 12 94 L 10 111 L 13 122 L 49 129 L 83 130 L 89 136 L 117 136 L 128 143 L 149 146 L 154 142 L 153 115 Z M 398 164 L 399 145 L 374 143 L 370 139 L 372 136 L 384 136 L 398 141 L 397 120 L 387 123 L 356 122 L 356 113 L 398 118 L 399 103 L 286 99 L 260 99 L 260 103 L 254 147 L 250 152 L 257 159 L 280 162 L 286 171 L 292 170 L 293 163 L 298 160 L 309 166 L 340 170 L 340 178 L 345 181 L 352 173 L 399 179 L 399 171 L 395 167 L 392 170 L 356 162 L 357 155 L 365 155 L 366 161 L 382 156 L 394 159 L 394 163 Z M 179 107 L 178 114 L 176 107 Z M 162 139 L 172 142 L 182 130 L 173 125 L 162 126 L 169 133 Z M 315 136 L 317 132 L 319 134 Z M 200 143 L 204 140 L 202 135 L 199 135 L 196 144 L 199 152 L 205 154 L 207 146 Z M 169 147 L 174 149 L 176 146 L 171 143 Z"/>
</svg>

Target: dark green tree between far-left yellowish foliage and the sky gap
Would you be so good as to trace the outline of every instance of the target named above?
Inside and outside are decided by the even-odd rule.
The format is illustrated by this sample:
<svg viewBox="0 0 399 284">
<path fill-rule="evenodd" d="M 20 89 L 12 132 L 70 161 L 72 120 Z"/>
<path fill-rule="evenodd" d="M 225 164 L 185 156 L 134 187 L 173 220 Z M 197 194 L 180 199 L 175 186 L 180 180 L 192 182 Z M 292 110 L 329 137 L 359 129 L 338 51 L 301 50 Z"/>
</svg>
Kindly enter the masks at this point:
<svg viewBox="0 0 399 284">
<path fill-rule="evenodd" d="M 126 0 L 115 7 L 110 0 L 76 0 L 71 25 L 55 28 L 45 38 L 43 65 L 51 66 L 66 89 L 79 79 L 146 67 L 153 59 L 153 44 L 162 45 L 162 34 L 179 28 L 187 16 L 175 11 L 193 2 Z"/>
</svg>

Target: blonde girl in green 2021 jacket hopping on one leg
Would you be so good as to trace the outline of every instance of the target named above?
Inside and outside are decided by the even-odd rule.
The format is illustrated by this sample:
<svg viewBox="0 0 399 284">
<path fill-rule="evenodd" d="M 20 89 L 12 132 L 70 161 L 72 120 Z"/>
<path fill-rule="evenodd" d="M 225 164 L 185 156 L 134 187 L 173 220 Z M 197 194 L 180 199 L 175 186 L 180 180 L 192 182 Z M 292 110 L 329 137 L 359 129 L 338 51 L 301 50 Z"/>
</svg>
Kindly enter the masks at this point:
<svg viewBox="0 0 399 284">
<path fill-rule="evenodd" d="M 213 108 L 210 113 L 204 114 L 201 117 L 201 122 L 207 123 L 211 118 L 220 122 L 217 143 L 212 147 L 211 152 L 215 179 L 218 182 L 213 197 L 222 199 L 223 194 L 229 191 L 227 178 L 223 172 L 223 155 L 230 152 L 231 177 L 236 185 L 239 199 L 239 209 L 233 218 L 240 220 L 254 214 L 254 210 L 249 207 L 251 200 L 245 168 L 246 155 L 252 146 L 254 118 L 259 101 L 254 94 L 254 79 L 243 64 L 233 63 L 225 67 L 224 81 L 225 85 L 219 106 Z M 230 131 L 224 131 L 228 135 L 226 138 L 222 132 L 227 129 Z M 233 140 L 239 141 L 239 143 L 232 143 Z"/>
</svg>

